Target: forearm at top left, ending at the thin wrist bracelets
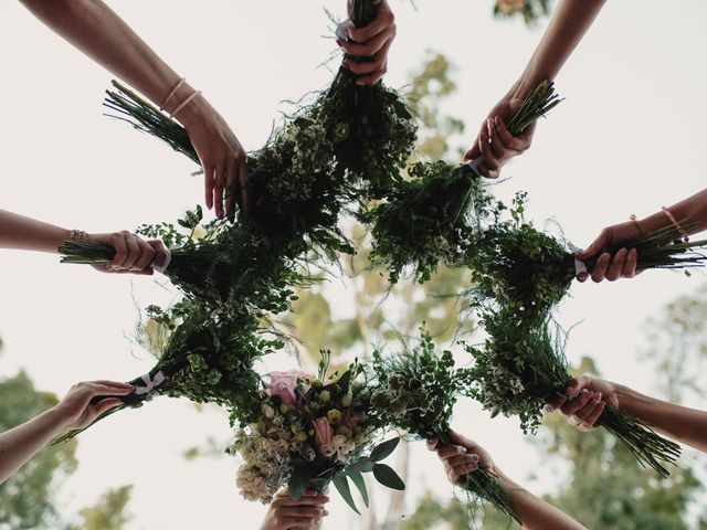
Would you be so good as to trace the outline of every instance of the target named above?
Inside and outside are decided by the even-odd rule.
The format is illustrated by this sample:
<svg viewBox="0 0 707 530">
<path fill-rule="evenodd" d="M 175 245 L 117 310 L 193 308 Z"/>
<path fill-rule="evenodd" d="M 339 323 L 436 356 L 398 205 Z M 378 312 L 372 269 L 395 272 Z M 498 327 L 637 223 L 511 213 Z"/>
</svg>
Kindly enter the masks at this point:
<svg viewBox="0 0 707 530">
<path fill-rule="evenodd" d="M 157 105 L 178 83 L 179 75 L 101 0 L 22 3 L 54 32 Z"/>
</svg>

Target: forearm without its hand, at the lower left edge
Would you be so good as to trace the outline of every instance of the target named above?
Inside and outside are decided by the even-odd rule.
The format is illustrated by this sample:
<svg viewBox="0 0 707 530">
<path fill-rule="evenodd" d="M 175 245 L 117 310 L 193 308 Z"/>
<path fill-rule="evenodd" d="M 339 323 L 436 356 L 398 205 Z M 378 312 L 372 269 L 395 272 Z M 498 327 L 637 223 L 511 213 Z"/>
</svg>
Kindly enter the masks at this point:
<svg viewBox="0 0 707 530">
<path fill-rule="evenodd" d="M 0 484 L 61 434 L 64 425 L 59 411 L 50 409 L 29 422 L 0 434 Z"/>
</svg>

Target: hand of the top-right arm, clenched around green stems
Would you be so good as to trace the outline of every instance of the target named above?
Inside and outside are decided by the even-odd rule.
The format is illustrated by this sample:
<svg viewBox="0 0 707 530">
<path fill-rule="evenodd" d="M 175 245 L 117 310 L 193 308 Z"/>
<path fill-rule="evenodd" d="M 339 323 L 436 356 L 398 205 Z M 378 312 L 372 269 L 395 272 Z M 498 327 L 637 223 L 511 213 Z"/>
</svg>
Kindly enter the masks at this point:
<svg viewBox="0 0 707 530">
<path fill-rule="evenodd" d="M 497 179 L 508 160 L 523 155 L 530 148 L 536 124 L 514 137 L 504 123 L 521 104 L 523 98 L 506 96 L 492 108 L 488 117 L 482 124 L 474 144 L 464 156 L 466 162 L 472 162 L 481 157 L 478 172 L 487 179 Z"/>
</svg>

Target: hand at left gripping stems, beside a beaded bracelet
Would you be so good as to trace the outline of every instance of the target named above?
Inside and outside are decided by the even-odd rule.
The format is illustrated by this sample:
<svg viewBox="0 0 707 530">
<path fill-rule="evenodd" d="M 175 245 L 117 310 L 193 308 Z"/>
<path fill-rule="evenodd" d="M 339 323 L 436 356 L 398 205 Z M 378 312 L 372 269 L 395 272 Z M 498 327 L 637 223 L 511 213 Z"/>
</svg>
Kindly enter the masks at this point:
<svg viewBox="0 0 707 530">
<path fill-rule="evenodd" d="M 167 261 L 167 247 L 161 241 L 145 241 L 127 231 L 113 234 L 88 234 L 88 241 L 110 245 L 115 257 L 107 265 L 94 265 L 103 273 L 152 274 L 150 265 L 162 266 Z"/>
</svg>

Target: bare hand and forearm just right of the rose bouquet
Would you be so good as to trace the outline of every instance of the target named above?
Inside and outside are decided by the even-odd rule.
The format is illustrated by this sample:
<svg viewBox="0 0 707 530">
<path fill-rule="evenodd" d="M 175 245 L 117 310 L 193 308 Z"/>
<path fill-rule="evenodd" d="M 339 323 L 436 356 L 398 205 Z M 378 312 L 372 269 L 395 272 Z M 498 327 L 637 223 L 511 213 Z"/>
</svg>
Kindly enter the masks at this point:
<svg viewBox="0 0 707 530">
<path fill-rule="evenodd" d="M 450 431 L 452 445 L 437 447 L 436 441 L 428 442 L 430 451 L 436 451 L 444 465 L 444 471 L 452 484 L 457 484 L 464 475 L 478 467 L 496 475 L 508 495 L 514 512 L 526 530 L 587 530 L 567 513 L 536 497 L 503 473 L 490 455 L 475 442 Z"/>
</svg>

